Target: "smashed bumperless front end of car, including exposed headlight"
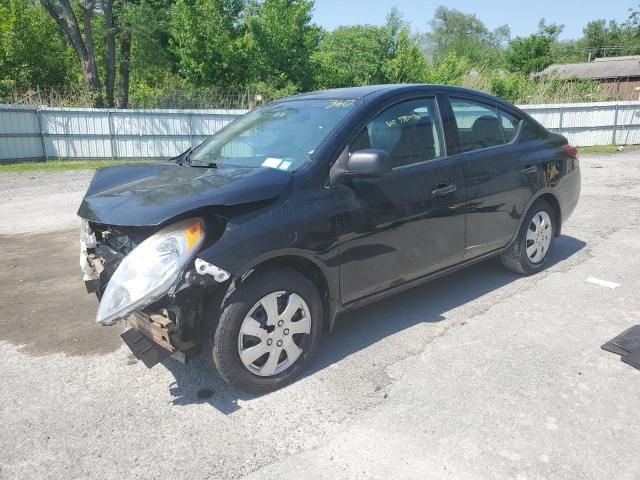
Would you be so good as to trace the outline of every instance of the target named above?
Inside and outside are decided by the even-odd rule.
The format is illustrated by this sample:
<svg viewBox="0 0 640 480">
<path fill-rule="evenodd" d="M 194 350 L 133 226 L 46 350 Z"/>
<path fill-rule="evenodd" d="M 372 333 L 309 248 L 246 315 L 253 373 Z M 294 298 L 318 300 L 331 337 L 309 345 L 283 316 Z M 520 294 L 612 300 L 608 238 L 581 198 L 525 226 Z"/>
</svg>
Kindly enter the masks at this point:
<svg viewBox="0 0 640 480">
<path fill-rule="evenodd" d="M 149 367 L 168 355 L 186 360 L 197 347 L 203 299 L 229 280 L 196 257 L 206 236 L 201 218 L 157 231 L 82 222 L 80 267 L 100 300 L 96 322 L 125 320 L 132 328 L 123 340 Z"/>
</svg>

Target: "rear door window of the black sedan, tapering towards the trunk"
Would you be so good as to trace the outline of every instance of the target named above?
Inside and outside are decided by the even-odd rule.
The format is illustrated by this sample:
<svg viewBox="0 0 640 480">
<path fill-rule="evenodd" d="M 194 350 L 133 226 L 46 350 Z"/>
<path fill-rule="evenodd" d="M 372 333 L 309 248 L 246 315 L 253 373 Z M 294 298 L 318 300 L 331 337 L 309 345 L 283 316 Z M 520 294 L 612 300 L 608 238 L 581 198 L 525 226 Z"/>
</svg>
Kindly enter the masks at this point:
<svg viewBox="0 0 640 480">
<path fill-rule="evenodd" d="M 497 147 L 513 140 L 519 120 L 490 105 L 451 98 L 463 152 Z"/>
</svg>

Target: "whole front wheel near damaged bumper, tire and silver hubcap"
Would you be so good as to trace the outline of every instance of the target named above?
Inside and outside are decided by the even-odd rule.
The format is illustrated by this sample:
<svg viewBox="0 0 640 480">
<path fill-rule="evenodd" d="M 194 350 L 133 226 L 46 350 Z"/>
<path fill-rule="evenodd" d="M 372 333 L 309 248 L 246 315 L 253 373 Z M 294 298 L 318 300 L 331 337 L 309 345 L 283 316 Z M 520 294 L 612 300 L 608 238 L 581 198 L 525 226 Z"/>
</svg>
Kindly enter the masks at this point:
<svg viewBox="0 0 640 480">
<path fill-rule="evenodd" d="M 293 380 L 322 333 L 322 301 L 304 275 L 286 269 L 254 273 L 223 302 L 207 355 L 233 387 L 265 393 Z"/>
</svg>

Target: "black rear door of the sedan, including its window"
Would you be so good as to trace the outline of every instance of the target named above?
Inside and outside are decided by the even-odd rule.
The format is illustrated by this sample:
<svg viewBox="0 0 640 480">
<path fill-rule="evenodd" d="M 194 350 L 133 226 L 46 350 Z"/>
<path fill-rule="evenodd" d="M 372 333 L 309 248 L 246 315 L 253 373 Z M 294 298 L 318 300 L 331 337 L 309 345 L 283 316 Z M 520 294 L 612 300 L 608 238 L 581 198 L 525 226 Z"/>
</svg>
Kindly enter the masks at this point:
<svg viewBox="0 0 640 480">
<path fill-rule="evenodd" d="M 539 188 L 539 142 L 515 111 L 449 96 L 467 194 L 465 259 L 506 246 Z"/>
</svg>

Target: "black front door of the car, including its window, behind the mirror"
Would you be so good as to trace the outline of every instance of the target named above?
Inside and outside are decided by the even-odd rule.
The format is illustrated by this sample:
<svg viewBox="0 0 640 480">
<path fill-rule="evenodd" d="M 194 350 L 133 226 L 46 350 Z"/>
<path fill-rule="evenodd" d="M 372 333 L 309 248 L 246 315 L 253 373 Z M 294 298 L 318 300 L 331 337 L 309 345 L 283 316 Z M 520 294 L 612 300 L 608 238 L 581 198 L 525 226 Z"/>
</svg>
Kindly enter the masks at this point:
<svg viewBox="0 0 640 480">
<path fill-rule="evenodd" d="M 464 254 L 462 167 L 447 158 L 434 97 L 376 115 L 349 146 L 391 156 L 384 177 L 332 187 L 338 218 L 342 303 L 459 262 Z"/>
</svg>

